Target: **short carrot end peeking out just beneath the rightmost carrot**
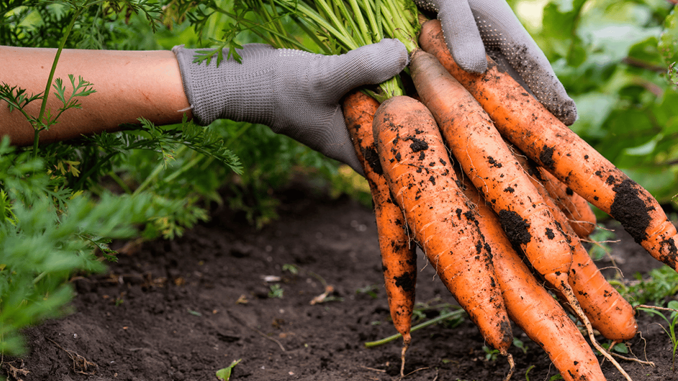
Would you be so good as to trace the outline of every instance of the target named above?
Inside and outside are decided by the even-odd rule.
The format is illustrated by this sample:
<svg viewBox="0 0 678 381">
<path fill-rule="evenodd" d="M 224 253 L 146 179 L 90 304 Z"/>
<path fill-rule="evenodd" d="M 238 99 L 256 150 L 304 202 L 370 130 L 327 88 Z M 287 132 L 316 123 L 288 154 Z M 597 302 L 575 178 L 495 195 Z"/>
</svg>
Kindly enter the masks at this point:
<svg viewBox="0 0 678 381">
<path fill-rule="evenodd" d="M 569 186 L 555 178 L 551 172 L 538 168 L 542 184 L 556 205 L 563 211 L 567 222 L 580 238 L 589 237 L 595 230 L 596 218 L 589 201 L 581 197 Z"/>
</svg>

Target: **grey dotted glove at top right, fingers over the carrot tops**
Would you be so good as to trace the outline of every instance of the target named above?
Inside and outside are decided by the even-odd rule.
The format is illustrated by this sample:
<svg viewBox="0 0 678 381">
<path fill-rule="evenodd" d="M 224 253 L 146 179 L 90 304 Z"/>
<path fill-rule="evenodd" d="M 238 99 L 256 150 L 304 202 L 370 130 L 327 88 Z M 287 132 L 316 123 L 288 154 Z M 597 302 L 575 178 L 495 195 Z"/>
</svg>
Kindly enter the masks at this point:
<svg viewBox="0 0 678 381">
<path fill-rule="evenodd" d="M 483 73 L 485 53 L 527 85 L 527 89 L 566 125 L 577 119 L 574 101 L 530 34 L 505 0 L 415 0 L 438 12 L 447 47 L 466 71 Z"/>
</svg>

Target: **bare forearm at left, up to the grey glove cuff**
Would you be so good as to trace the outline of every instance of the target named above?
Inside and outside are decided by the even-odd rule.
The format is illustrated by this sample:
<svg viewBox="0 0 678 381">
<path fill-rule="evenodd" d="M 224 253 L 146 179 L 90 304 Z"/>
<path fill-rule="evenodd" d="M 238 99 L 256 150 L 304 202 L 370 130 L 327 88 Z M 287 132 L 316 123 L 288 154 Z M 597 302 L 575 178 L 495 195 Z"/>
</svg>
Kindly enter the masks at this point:
<svg viewBox="0 0 678 381">
<path fill-rule="evenodd" d="M 43 92 L 55 54 L 56 49 L 0 46 L 0 83 L 24 88 L 28 96 Z M 139 117 L 158 125 L 178 123 L 184 113 L 191 117 L 179 67 L 170 51 L 64 49 L 54 78 L 64 79 L 66 94 L 68 74 L 93 83 L 96 93 L 79 99 L 81 109 L 64 112 L 58 124 L 41 132 L 41 142 L 115 131 L 121 123 L 138 123 Z M 54 94 L 48 99 L 47 108 L 54 115 L 60 102 Z M 39 110 L 39 101 L 26 107 L 35 117 Z M 2 101 L 0 135 L 8 135 L 12 144 L 33 144 L 31 125 L 18 111 L 10 113 Z"/>
</svg>

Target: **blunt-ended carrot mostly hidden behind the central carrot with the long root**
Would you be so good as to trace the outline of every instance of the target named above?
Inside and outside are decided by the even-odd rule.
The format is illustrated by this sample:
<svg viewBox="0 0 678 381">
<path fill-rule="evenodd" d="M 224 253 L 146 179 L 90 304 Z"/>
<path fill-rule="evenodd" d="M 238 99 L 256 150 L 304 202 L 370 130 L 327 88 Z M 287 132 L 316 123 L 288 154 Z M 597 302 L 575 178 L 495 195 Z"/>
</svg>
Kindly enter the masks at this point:
<svg viewBox="0 0 678 381">
<path fill-rule="evenodd" d="M 540 168 L 530 162 L 526 157 L 516 154 L 516 158 L 523 165 L 534 186 L 544 196 L 544 200 L 553 212 L 553 216 L 563 226 L 565 233 L 570 237 L 570 244 L 574 248 L 572 252 L 572 268 L 567 278 L 575 296 L 582 306 L 584 313 L 589 317 L 591 325 L 605 338 L 614 341 L 631 340 L 638 331 L 633 306 L 622 297 L 619 292 L 607 282 L 598 267 L 595 265 L 589 252 L 580 241 L 574 229 L 567 224 L 567 216 L 549 197 L 546 186 L 542 183 L 546 180 L 540 178 Z"/>
</svg>

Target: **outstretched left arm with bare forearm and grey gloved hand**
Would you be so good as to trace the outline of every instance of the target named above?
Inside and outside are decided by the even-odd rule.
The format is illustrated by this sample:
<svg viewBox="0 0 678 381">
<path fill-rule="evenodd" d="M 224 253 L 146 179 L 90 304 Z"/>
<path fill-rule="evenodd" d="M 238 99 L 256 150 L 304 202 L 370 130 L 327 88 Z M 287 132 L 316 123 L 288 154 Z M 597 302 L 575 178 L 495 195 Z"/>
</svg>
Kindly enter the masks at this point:
<svg viewBox="0 0 678 381">
<path fill-rule="evenodd" d="M 407 64 L 402 43 L 384 39 L 341 56 L 262 44 L 245 45 L 240 53 L 242 64 L 231 58 L 207 65 L 193 62 L 195 51 L 182 47 L 174 53 L 64 49 L 56 77 L 80 75 L 96 93 L 81 100 L 81 110 L 66 111 L 60 123 L 41 132 L 40 141 L 115 131 L 139 117 L 157 125 L 178 123 L 186 113 L 202 125 L 219 118 L 268 125 L 361 172 L 339 100 L 353 87 L 399 73 Z M 0 47 L 0 82 L 27 89 L 28 96 L 44 91 L 54 54 L 56 49 Z M 49 100 L 56 111 L 58 100 Z M 26 111 L 37 116 L 39 103 Z M 16 145 L 33 143 L 30 123 L 5 106 L 0 134 Z"/>
</svg>

